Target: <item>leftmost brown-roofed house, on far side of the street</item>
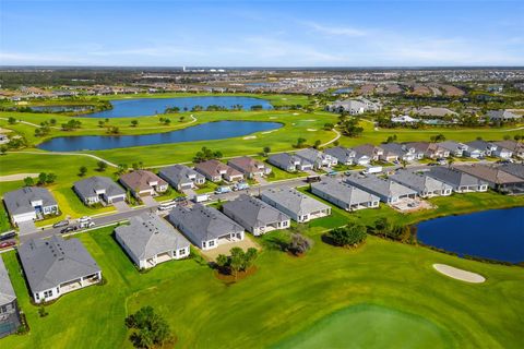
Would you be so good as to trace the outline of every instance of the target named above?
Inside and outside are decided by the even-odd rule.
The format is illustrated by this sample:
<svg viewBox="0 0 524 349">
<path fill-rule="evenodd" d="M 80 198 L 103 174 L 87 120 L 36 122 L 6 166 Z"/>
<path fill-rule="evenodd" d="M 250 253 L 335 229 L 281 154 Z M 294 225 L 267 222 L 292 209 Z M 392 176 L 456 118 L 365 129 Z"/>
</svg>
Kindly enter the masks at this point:
<svg viewBox="0 0 524 349">
<path fill-rule="evenodd" d="M 135 170 L 120 176 L 120 183 L 123 184 L 134 197 L 154 196 L 167 191 L 165 180 L 147 170 Z"/>
</svg>

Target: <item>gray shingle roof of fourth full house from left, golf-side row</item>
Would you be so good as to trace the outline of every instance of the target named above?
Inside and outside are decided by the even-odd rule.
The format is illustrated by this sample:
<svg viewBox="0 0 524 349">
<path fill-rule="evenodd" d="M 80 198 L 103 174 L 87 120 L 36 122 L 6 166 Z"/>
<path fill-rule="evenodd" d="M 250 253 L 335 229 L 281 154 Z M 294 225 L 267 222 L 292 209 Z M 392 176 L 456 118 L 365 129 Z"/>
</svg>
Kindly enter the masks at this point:
<svg viewBox="0 0 524 349">
<path fill-rule="evenodd" d="M 265 227 L 276 221 L 290 219 L 286 214 L 270 206 L 261 200 L 241 194 L 234 201 L 224 204 L 224 212 L 233 212 L 250 227 Z"/>
</svg>

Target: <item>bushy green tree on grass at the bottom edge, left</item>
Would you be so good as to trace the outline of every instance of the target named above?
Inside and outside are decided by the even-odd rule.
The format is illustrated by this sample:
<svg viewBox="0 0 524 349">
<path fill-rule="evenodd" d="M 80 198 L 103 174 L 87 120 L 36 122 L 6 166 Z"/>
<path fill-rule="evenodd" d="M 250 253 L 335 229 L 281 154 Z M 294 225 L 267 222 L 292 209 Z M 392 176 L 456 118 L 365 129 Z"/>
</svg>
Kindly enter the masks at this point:
<svg viewBox="0 0 524 349">
<path fill-rule="evenodd" d="M 135 348 L 162 347 L 172 339 L 169 324 L 152 306 L 143 306 L 129 315 L 124 324 L 128 328 L 135 329 L 130 336 Z"/>
</svg>

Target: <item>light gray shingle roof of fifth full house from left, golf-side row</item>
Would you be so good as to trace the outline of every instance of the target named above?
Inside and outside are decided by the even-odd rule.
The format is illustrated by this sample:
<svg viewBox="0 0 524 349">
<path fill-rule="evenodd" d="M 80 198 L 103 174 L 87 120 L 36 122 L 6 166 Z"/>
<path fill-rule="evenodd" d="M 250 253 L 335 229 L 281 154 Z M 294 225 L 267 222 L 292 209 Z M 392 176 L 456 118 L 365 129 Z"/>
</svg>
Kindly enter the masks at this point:
<svg viewBox="0 0 524 349">
<path fill-rule="evenodd" d="M 264 197 L 286 207 L 298 216 L 330 208 L 326 204 L 291 188 L 267 189 L 262 192 L 262 200 Z"/>
</svg>

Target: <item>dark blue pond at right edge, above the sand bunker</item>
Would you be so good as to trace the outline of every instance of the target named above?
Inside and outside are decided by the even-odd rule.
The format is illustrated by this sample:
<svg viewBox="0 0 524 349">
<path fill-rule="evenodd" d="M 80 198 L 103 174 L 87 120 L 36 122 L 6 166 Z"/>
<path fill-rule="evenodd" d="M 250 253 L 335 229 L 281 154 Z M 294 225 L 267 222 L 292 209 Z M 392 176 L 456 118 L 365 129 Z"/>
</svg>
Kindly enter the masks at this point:
<svg viewBox="0 0 524 349">
<path fill-rule="evenodd" d="M 417 237 L 426 244 L 460 255 L 524 262 L 524 207 L 422 221 Z"/>
</svg>

